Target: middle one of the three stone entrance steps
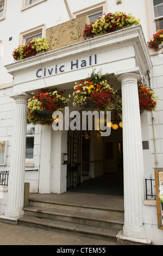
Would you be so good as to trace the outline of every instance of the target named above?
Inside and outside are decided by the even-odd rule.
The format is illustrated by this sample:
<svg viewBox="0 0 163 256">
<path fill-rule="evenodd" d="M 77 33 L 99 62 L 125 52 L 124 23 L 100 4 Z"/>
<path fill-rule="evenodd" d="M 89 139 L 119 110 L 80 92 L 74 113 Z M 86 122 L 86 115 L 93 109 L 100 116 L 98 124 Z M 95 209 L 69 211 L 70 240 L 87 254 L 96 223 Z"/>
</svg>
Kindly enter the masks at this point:
<svg viewBox="0 0 163 256">
<path fill-rule="evenodd" d="M 24 207 L 26 215 L 48 218 L 51 220 L 65 221 L 79 224 L 92 225 L 94 227 L 106 227 L 114 229 L 122 229 L 124 219 L 114 215 L 102 215 L 84 211 L 70 211 L 54 208 L 46 208 L 44 206 L 28 205 Z"/>
</svg>

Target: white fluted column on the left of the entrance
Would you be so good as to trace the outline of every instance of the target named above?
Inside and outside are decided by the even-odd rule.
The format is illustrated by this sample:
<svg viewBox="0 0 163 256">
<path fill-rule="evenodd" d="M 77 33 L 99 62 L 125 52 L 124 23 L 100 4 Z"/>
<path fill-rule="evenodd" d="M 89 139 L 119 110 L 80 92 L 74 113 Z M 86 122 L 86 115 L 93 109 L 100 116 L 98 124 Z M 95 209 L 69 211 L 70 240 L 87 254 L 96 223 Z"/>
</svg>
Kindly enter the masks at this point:
<svg viewBox="0 0 163 256">
<path fill-rule="evenodd" d="M 8 202 L 4 216 L 24 215 L 24 172 L 27 129 L 27 96 L 14 96 L 16 101 L 15 123 L 12 136 L 12 156 L 10 162 Z"/>
</svg>

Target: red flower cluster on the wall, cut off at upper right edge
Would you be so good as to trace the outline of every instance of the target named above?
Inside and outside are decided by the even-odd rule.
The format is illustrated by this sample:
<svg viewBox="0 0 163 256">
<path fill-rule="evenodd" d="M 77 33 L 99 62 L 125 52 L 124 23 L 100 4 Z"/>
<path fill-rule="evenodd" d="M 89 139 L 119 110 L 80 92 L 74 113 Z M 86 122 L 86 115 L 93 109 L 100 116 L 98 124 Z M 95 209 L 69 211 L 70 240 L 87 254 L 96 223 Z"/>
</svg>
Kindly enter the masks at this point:
<svg viewBox="0 0 163 256">
<path fill-rule="evenodd" d="M 158 51 L 158 48 L 163 47 L 163 29 L 153 35 L 153 39 L 147 42 L 147 46 L 155 51 Z"/>
</svg>

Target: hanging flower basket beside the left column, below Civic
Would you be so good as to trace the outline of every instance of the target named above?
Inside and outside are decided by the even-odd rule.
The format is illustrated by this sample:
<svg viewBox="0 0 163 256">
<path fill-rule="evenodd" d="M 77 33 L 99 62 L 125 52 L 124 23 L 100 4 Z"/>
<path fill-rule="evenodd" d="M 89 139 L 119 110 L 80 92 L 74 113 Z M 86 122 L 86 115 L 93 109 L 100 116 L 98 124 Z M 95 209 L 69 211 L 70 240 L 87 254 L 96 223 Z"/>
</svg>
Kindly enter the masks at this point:
<svg viewBox="0 0 163 256">
<path fill-rule="evenodd" d="M 29 124 L 52 125 L 54 111 L 61 111 L 67 106 L 62 92 L 57 90 L 39 90 L 28 99 L 27 121 Z"/>
</svg>

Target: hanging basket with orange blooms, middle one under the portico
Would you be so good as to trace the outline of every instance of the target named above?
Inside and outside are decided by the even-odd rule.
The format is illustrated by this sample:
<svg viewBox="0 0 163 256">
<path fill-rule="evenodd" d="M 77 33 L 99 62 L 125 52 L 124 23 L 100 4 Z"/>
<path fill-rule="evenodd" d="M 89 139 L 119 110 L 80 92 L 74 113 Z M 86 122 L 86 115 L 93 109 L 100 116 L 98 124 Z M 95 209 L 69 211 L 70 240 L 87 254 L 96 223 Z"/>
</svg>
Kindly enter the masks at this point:
<svg viewBox="0 0 163 256">
<path fill-rule="evenodd" d="M 73 106 L 89 107 L 94 111 L 109 111 L 115 108 L 116 94 L 101 72 L 92 72 L 84 81 L 76 82 L 73 92 Z"/>
</svg>

